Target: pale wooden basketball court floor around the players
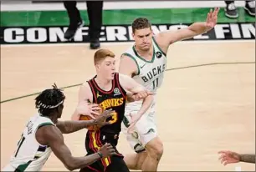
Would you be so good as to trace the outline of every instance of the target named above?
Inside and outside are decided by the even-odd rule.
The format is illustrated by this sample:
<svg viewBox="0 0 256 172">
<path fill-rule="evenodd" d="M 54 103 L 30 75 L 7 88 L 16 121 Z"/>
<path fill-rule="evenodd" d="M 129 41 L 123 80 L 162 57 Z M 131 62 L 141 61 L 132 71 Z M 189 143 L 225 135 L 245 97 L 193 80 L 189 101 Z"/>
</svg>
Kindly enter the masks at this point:
<svg viewBox="0 0 256 172">
<path fill-rule="evenodd" d="M 130 43 L 103 44 L 117 57 Z M 33 94 L 53 83 L 66 87 L 95 74 L 88 45 L 1 47 L 1 101 Z M 218 151 L 255 152 L 255 43 L 177 43 L 167 55 L 165 80 L 157 95 L 157 124 L 164 143 L 159 170 L 255 170 L 255 164 L 223 166 Z M 79 87 L 64 89 L 63 119 L 70 119 Z M 35 95 L 1 104 L 1 168 L 8 163 Z M 83 156 L 86 130 L 64 135 L 74 156 Z M 124 136 L 123 154 L 132 149 Z M 44 170 L 67 170 L 51 155 Z"/>
</svg>

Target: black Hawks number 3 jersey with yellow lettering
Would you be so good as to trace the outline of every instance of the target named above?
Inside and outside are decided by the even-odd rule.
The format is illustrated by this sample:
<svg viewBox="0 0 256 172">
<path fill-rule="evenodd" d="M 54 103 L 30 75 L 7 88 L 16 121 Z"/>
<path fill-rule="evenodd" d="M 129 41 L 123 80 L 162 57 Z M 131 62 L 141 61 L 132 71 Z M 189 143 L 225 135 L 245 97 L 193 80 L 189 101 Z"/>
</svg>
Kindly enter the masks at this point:
<svg viewBox="0 0 256 172">
<path fill-rule="evenodd" d="M 126 101 L 126 92 L 120 86 L 119 73 L 115 73 L 112 80 L 112 88 L 109 91 L 100 89 L 100 86 L 95 82 L 95 78 L 96 76 L 88 81 L 93 94 L 92 103 L 100 104 L 105 110 L 112 109 L 115 111 L 114 115 L 106 120 L 110 124 L 100 128 L 100 131 L 118 134 L 125 114 Z"/>
</svg>

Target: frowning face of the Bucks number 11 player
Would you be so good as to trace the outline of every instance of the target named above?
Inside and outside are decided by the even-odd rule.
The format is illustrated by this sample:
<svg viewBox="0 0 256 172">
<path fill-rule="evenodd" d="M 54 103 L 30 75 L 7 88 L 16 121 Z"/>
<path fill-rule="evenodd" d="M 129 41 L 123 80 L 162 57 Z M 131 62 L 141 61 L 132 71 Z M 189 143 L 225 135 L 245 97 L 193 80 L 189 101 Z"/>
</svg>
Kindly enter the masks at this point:
<svg viewBox="0 0 256 172">
<path fill-rule="evenodd" d="M 153 33 L 151 28 L 137 29 L 135 33 L 133 33 L 133 38 L 136 42 L 136 48 L 139 48 L 143 51 L 149 50 L 152 45 L 152 36 Z"/>
</svg>

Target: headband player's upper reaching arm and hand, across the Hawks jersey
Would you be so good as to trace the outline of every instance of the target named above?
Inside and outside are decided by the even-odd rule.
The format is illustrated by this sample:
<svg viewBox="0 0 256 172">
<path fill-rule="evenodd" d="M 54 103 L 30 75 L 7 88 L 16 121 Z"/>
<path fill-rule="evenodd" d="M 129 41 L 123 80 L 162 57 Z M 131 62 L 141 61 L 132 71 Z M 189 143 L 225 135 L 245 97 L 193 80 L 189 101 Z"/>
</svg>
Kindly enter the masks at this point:
<svg viewBox="0 0 256 172">
<path fill-rule="evenodd" d="M 83 113 L 80 113 L 83 114 Z M 105 119 L 108 119 L 110 116 L 113 115 L 113 112 L 110 110 L 105 110 L 100 116 L 96 117 L 96 119 L 91 120 L 81 120 L 81 121 L 59 121 L 57 122 L 56 126 L 59 128 L 61 133 L 69 134 L 79 131 L 80 129 L 88 128 L 91 125 L 97 125 L 97 127 L 102 127 L 108 122 L 105 122 Z"/>
</svg>

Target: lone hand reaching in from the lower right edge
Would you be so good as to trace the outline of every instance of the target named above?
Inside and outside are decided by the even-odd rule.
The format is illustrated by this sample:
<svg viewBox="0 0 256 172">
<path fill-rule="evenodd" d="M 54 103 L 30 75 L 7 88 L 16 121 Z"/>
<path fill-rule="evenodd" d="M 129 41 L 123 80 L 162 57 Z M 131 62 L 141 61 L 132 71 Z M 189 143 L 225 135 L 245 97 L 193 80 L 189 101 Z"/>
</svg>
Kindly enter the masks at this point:
<svg viewBox="0 0 256 172">
<path fill-rule="evenodd" d="M 219 159 L 221 160 L 221 163 L 224 165 L 238 163 L 240 161 L 240 155 L 229 150 L 221 150 L 218 152 L 218 154 L 221 154 Z"/>
</svg>

